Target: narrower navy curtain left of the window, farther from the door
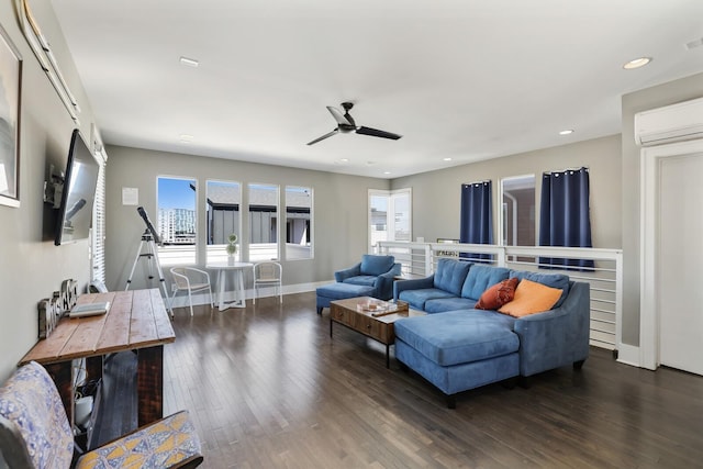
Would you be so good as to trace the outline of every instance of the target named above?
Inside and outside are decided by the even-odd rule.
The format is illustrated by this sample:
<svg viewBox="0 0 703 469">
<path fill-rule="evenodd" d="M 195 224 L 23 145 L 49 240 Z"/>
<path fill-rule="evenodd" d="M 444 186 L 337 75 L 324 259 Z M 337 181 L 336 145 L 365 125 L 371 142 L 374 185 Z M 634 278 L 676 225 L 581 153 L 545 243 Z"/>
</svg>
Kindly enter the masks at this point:
<svg viewBox="0 0 703 469">
<path fill-rule="evenodd" d="M 461 226 L 459 242 L 493 244 L 493 210 L 491 181 L 461 185 Z M 461 257 L 490 259 L 490 254 L 467 254 Z"/>
</svg>

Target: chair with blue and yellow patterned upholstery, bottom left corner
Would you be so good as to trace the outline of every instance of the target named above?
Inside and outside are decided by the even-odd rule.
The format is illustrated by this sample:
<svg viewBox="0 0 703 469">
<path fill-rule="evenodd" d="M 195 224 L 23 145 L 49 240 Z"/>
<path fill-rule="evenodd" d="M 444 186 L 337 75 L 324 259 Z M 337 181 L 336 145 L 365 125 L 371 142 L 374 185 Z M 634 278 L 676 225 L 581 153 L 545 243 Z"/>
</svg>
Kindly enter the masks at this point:
<svg viewBox="0 0 703 469">
<path fill-rule="evenodd" d="M 0 389 L 0 450 L 10 468 L 68 469 L 74 433 L 46 370 L 32 361 Z M 194 468 L 200 440 L 187 411 L 86 453 L 76 468 Z"/>
</svg>

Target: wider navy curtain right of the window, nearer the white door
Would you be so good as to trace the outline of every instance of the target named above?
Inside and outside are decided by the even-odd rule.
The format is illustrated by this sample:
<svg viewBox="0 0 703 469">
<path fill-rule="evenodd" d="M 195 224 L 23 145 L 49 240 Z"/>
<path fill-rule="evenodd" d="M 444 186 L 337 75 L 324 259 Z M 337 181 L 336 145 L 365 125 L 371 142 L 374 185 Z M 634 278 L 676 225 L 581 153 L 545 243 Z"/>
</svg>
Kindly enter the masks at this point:
<svg viewBox="0 0 703 469">
<path fill-rule="evenodd" d="M 593 247 L 589 194 L 588 168 L 543 175 L 539 205 L 540 246 Z M 567 269 L 593 268 L 593 261 L 585 259 L 542 257 L 539 263 L 565 266 L 560 268 Z"/>
</svg>

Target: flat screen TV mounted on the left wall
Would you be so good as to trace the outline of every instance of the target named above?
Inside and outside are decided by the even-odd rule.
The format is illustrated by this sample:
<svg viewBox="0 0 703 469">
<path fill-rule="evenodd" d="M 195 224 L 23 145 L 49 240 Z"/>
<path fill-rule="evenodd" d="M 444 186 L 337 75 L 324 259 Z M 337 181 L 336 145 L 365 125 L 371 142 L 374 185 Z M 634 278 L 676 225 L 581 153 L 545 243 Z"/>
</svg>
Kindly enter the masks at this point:
<svg viewBox="0 0 703 469">
<path fill-rule="evenodd" d="M 62 203 L 56 220 L 54 244 L 57 246 L 86 239 L 90 235 L 99 169 L 98 160 L 88 149 L 78 129 L 74 130 L 68 147 Z"/>
</svg>

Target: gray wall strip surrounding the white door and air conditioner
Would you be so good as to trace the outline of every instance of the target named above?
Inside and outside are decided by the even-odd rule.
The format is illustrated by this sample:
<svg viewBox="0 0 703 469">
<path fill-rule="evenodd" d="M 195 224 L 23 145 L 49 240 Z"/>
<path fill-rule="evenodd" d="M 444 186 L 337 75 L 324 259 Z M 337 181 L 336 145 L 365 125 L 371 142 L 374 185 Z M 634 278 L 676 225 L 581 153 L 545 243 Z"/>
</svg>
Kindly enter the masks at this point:
<svg viewBox="0 0 703 469">
<path fill-rule="evenodd" d="M 703 97 L 703 74 L 623 96 L 623 342 L 639 345 L 639 150 L 635 144 L 637 112 Z"/>
</svg>

